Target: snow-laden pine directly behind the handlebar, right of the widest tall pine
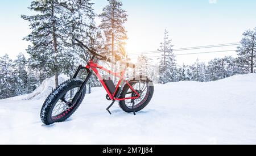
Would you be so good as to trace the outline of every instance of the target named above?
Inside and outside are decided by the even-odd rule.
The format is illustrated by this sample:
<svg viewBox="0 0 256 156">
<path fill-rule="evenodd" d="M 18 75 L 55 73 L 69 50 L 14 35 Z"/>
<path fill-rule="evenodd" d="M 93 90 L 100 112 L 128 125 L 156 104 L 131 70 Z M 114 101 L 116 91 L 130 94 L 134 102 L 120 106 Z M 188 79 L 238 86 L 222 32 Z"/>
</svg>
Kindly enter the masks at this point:
<svg viewBox="0 0 256 156">
<path fill-rule="evenodd" d="M 67 34 L 63 38 L 63 43 L 67 47 L 68 56 L 65 60 L 64 73 L 71 77 L 79 64 L 85 64 L 89 60 L 89 53 L 78 47 L 75 39 L 95 49 L 101 49 L 103 42 L 101 32 L 94 22 L 96 14 L 90 0 L 61 0 L 61 6 L 63 7 L 61 19 L 65 24 L 63 31 Z"/>
</svg>

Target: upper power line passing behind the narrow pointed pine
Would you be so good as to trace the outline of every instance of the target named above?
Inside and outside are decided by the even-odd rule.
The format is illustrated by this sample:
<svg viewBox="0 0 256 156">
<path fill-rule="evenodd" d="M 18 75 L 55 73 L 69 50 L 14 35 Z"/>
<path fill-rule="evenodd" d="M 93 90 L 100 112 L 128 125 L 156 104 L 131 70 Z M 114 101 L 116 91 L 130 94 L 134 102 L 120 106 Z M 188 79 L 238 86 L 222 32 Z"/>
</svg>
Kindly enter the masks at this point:
<svg viewBox="0 0 256 156">
<path fill-rule="evenodd" d="M 184 51 L 184 50 L 228 47 L 228 46 L 233 46 L 233 45 L 240 45 L 240 43 L 229 43 L 229 44 L 207 45 L 207 46 L 200 46 L 200 47 L 179 48 L 179 49 L 172 49 L 172 51 L 176 52 L 176 51 Z M 164 50 L 162 50 L 162 51 L 155 50 L 155 51 L 142 52 L 142 53 L 132 53 L 132 54 L 128 54 L 128 56 L 137 56 L 137 55 L 141 55 L 141 54 L 155 54 L 155 53 L 162 53 L 162 52 L 164 52 Z"/>
</svg>

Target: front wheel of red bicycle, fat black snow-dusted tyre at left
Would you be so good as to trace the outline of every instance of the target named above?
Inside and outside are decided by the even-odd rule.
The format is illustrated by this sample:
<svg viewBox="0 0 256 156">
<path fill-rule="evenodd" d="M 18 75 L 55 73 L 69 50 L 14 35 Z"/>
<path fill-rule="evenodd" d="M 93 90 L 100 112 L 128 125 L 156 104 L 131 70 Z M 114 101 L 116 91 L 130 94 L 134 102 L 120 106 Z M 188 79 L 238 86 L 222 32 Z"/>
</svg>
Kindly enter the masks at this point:
<svg viewBox="0 0 256 156">
<path fill-rule="evenodd" d="M 84 88 L 77 102 L 71 104 L 82 83 L 80 79 L 70 79 L 52 91 L 41 110 L 41 119 L 44 124 L 60 123 L 72 116 L 86 93 L 86 88 Z"/>
</svg>

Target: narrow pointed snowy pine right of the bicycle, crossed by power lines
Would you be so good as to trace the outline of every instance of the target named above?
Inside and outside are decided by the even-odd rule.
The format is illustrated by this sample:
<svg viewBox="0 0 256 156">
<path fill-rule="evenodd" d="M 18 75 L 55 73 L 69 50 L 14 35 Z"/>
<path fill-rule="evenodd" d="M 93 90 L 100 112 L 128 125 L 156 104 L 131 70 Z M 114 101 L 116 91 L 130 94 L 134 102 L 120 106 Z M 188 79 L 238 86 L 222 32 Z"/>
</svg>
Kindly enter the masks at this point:
<svg viewBox="0 0 256 156">
<path fill-rule="evenodd" d="M 173 45 L 169 39 L 168 31 L 164 31 L 164 41 L 160 43 L 159 52 L 162 52 L 159 64 L 159 83 L 175 82 L 177 81 L 177 66 L 174 52 L 172 51 Z"/>
</svg>

